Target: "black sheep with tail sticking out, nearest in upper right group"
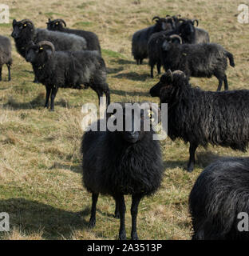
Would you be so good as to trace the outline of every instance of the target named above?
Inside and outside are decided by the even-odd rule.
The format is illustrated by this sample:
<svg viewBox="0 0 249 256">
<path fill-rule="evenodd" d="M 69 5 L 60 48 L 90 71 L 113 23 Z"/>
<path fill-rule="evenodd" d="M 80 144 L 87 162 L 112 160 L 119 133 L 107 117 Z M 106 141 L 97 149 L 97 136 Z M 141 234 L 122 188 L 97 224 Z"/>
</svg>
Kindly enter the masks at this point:
<svg viewBox="0 0 249 256">
<path fill-rule="evenodd" d="M 182 44 L 179 35 L 173 34 L 164 38 L 162 44 L 162 62 L 164 70 L 182 70 L 188 77 L 211 78 L 219 80 L 218 89 L 224 82 L 228 90 L 227 58 L 230 66 L 235 66 L 231 53 L 215 43 Z"/>
</svg>

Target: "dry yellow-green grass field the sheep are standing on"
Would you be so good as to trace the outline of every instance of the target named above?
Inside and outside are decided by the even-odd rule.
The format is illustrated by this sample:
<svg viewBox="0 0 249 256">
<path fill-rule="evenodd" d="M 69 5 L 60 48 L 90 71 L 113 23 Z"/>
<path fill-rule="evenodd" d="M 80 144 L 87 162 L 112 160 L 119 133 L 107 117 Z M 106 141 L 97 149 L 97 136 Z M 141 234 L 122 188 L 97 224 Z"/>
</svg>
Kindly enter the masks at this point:
<svg viewBox="0 0 249 256">
<path fill-rule="evenodd" d="M 155 15 L 181 14 L 198 18 L 211 42 L 222 44 L 235 56 L 228 67 L 230 89 L 247 89 L 249 34 L 239 24 L 239 1 L 225 0 L 106 0 L 106 1 L 7 1 L 10 24 L 0 24 L 1 34 L 10 37 L 12 19 L 30 18 L 45 27 L 48 18 L 63 18 L 72 28 L 92 30 L 101 41 L 108 66 L 112 101 L 151 100 L 148 90 L 157 81 L 149 78 L 148 62 L 136 66 L 131 55 L 132 34 L 152 24 Z M 244 3 L 247 3 L 245 1 Z M 248 2 L 249 3 L 249 2 Z M 117 239 L 119 221 L 113 218 L 115 204 L 100 197 L 97 225 L 88 229 L 91 198 L 81 185 L 81 106 L 97 103 L 93 90 L 60 89 L 55 112 L 43 108 L 45 87 L 34 84 L 34 74 L 15 50 L 12 81 L 3 69 L 0 82 L 0 212 L 10 214 L 10 232 L 1 239 Z M 216 78 L 192 78 L 204 90 L 216 90 Z M 153 98 L 153 101 L 158 102 Z M 169 138 L 161 142 L 164 182 L 151 198 L 140 203 L 140 239 L 190 239 L 188 194 L 211 154 L 247 155 L 221 147 L 197 150 L 196 170 L 188 174 L 188 145 Z M 130 197 L 126 197 L 126 230 L 130 238 Z"/>
</svg>

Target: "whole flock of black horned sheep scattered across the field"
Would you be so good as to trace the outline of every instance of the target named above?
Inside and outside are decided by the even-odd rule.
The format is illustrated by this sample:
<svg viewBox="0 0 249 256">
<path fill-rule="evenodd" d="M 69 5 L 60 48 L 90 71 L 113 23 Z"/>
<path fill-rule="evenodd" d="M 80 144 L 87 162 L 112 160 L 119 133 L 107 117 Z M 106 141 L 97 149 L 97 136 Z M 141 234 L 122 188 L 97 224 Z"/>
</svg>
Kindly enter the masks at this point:
<svg viewBox="0 0 249 256">
<path fill-rule="evenodd" d="M 165 13 L 152 16 L 151 26 L 130 33 L 132 65 L 140 69 L 147 59 L 146 82 L 151 81 L 151 89 L 144 91 L 150 98 L 147 102 L 112 100 L 116 88 L 109 85 L 109 63 L 103 57 L 105 50 L 101 49 L 101 40 L 94 31 L 69 28 L 61 17 L 49 18 L 44 24 L 46 28 L 36 27 L 26 17 L 19 21 L 13 18 L 11 22 L 11 35 L 0 35 L 0 81 L 5 79 L 2 79 L 4 65 L 8 69 L 6 81 L 14 79 L 13 72 L 10 75 L 10 69 L 13 71 L 16 65 L 12 58 L 10 40 L 13 40 L 21 61 L 32 66 L 34 83 L 45 87 L 45 108 L 57 114 L 57 92 L 67 88 L 75 89 L 75 94 L 77 90 L 84 90 L 84 94 L 91 89 L 97 94 L 98 107 L 104 104 L 106 130 L 99 129 L 103 119 L 98 118 L 94 123 L 97 130 L 82 132 L 81 146 L 77 149 L 81 155 L 83 190 L 91 197 L 88 227 L 93 232 L 98 225 L 98 198 L 109 196 L 115 212 L 112 217 L 105 216 L 106 221 L 118 218 L 117 238 L 127 239 L 124 196 L 129 195 L 132 225 L 128 238 L 141 237 L 140 225 L 144 220 L 137 222 L 139 206 L 145 197 L 152 198 L 158 191 L 167 190 L 167 186 L 162 186 L 168 168 L 167 161 L 163 161 L 162 147 L 167 150 L 168 144 L 165 139 L 154 139 L 158 132 L 156 126 L 161 124 L 168 135 L 167 141 L 180 139 L 188 145 L 188 162 L 179 167 L 189 177 L 199 165 L 196 150 L 200 146 L 247 152 L 249 90 L 231 90 L 232 86 L 228 86 L 227 70 L 236 69 L 233 50 L 214 42 L 212 34 L 201 28 L 201 20 Z M 157 82 L 152 84 L 155 66 Z M 212 77 L 217 78 L 218 86 L 204 90 L 201 79 L 210 81 Z M 192 78 L 197 78 L 199 86 L 192 85 Z M 101 102 L 102 97 L 105 102 Z M 81 105 L 85 103 L 88 102 L 82 101 Z M 136 108 L 128 112 L 129 106 Z M 167 118 L 167 126 L 163 118 Z M 109 123 L 117 128 L 117 122 L 121 122 L 122 129 L 109 130 Z M 143 128 L 145 123 L 148 130 Z M 239 222 L 242 213 L 249 214 L 248 202 L 248 158 L 213 159 L 189 190 L 192 240 L 249 240 L 248 230 L 243 230 Z"/>
</svg>

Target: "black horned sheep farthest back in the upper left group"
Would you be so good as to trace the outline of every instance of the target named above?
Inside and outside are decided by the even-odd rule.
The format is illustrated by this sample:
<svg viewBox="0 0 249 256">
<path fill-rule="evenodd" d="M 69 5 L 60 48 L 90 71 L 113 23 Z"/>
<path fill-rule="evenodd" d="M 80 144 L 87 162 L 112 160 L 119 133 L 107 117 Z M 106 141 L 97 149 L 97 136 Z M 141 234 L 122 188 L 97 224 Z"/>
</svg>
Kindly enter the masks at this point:
<svg viewBox="0 0 249 256">
<path fill-rule="evenodd" d="M 97 34 L 85 30 L 72 30 L 66 28 L 66 23 L 61 18 L 55 20 L 51 20 L 49 18 L 49 21 L 46 24 L 48 30 L 60 31 L 69 34 L 77 34 L 78 36 L 85 38 L 85 41 L 87 43 L 87 50 L 97 50 L 101 54 L 101 46 L 99 39 L 97 38 Z"/>
</svg>

